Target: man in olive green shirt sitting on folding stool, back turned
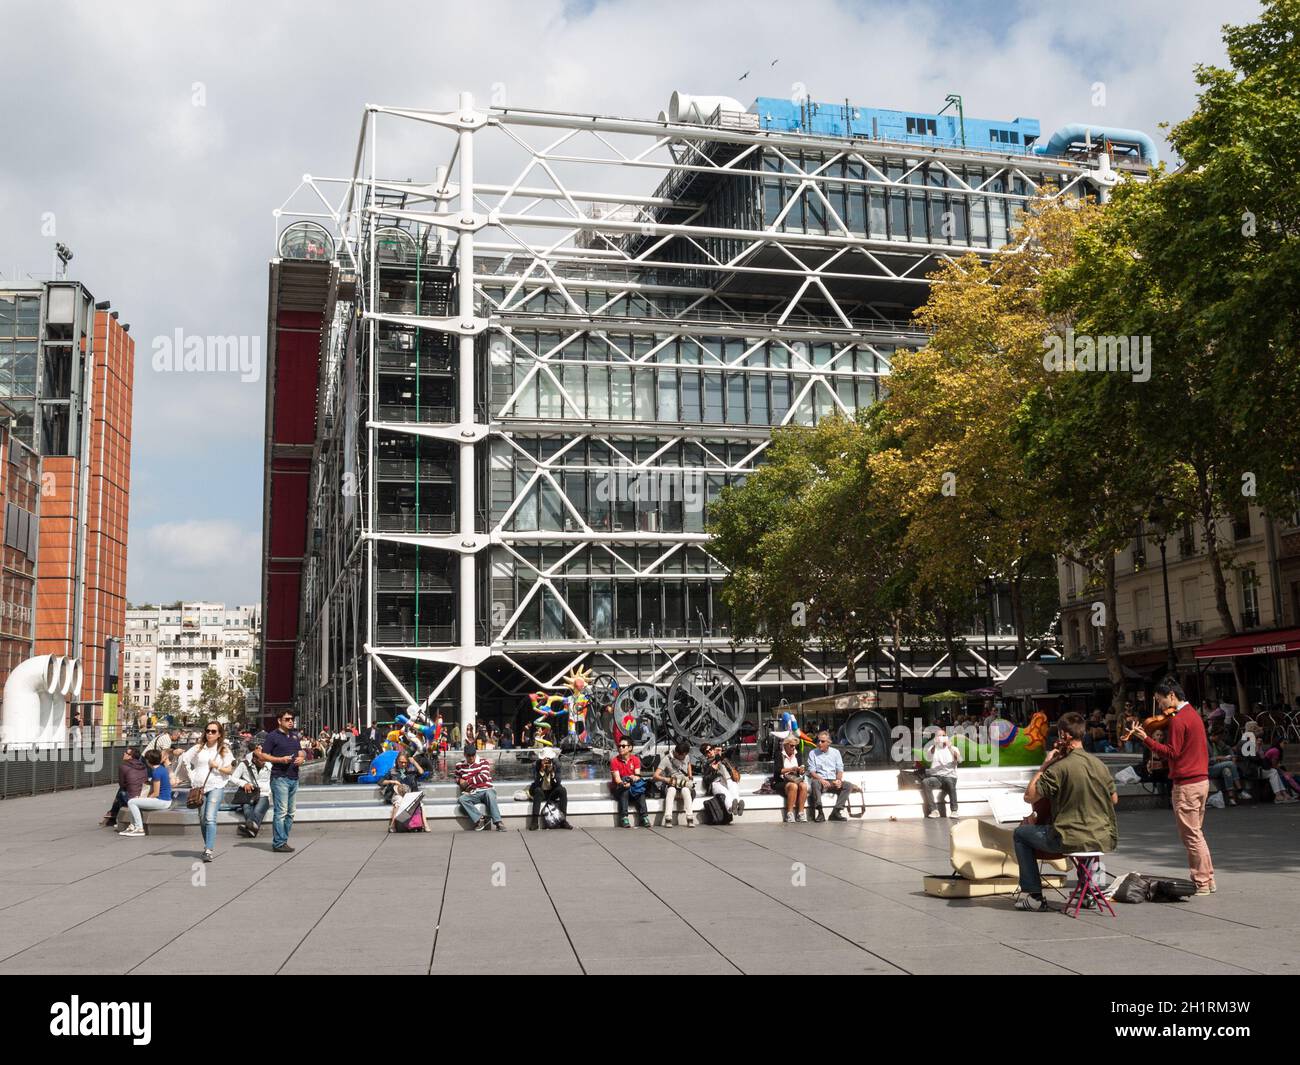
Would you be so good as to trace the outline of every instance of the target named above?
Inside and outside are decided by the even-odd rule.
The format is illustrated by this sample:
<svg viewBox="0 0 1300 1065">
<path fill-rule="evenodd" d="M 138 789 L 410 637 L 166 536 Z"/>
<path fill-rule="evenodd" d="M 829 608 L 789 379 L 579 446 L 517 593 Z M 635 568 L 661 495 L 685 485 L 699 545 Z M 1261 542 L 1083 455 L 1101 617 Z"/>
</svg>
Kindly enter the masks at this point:
<svg viewBox="0 0 1300 1065">
<path fill-rule="evenodd" d="M 1039 853 L 1071 854 L 1079 850 L 1114 850 L 1119 843 L 1115 804 L 1119 796 L 1110 770 L 1083 749 L 1088 732 L 1083 714 L 1062 714 L 1056 749 L 1024 789 L 1031 806 L 1040 798 L 1052 804 L 1050 824 L 1022 824 L 1015 830 L 1015 858 L 1020 866 L 1018 910 L 1048 909 L 1039 876 Z"/>
</svg>

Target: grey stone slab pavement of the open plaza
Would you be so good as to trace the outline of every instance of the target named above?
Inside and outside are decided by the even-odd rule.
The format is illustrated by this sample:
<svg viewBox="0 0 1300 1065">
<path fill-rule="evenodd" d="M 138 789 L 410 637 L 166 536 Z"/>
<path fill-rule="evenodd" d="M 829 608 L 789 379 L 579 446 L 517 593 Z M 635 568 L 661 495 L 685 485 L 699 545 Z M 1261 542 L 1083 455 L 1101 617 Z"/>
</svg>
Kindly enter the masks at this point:
<svg viewBox="0 0 1300 1065">
<path fill-rule="evenodd" d="M 946 823 L 117 839 L 109 788 L 0 802 L 0 973 L 1300 971 L 1300 811 L 1212 810 L 1219 889 L 1118 917 L 930 899 Z M 1115 873 L 1186 875 L 1167 810 Z M 802 863 L 802 876 L 798 875 Z M 668 961 L 671 960 L 671 961 Z"/>
</svg>

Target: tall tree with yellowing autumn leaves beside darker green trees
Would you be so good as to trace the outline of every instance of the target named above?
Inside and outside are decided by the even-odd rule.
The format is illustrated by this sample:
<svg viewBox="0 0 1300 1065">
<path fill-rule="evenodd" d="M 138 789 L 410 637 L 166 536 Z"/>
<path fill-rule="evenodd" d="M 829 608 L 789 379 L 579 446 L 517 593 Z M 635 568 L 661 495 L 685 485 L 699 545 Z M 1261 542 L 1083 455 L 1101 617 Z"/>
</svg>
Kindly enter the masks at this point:
<svg viewBox="0 0 1300 1065">
<path fill-rule="evenodd" d="M 930 342 L 894 355 L 872 415 L 885 443 L 875 472 L 909 519 L 920 585 L 949 598 L 965 586 L 972 598 L 985 580 L 1005 580 L 1019 658 L 1030 637 L 1026 583 L 1050 571 L 1061 516 L 1015 447 L 1008 414 L 1044 378 L 1043 270 L 1066 260 L 1096 212 L 1040 199 L 994 261 L 972 254 L 932 274 L 916 312 Z"/>
</svg>

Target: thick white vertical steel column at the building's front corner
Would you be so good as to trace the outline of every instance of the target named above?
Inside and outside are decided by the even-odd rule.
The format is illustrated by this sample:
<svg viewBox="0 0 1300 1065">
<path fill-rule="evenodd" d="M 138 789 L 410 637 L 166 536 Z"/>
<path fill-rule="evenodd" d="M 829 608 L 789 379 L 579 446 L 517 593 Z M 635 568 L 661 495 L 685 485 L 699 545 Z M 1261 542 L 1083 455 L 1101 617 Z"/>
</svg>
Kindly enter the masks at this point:
<svg viewBox="0 0 1300 1065">
<path fill-rule="evenodd" d="M 469 92 L 460 94 L 460 117 L 469 120 L 474 100 Z M 468 225 L 474 213 L 474 134 L 472 129 L 462 129 L 459 134 L 460 161 L 460 221 Z M 456 243 L 456 313 L 462 324 L 474 317 L 474 234 L 462 229 Z M 458 406 L 460 423 L 460 480 L 458 516 L 462 540 L 474 536 L 476 492 L 474 492 L 474 337 L 460 335 L 460 362 L 458 364 Z M 474 603 L 474 553 L 460 555 L 460 650 L 465 655 L 473 651 L 477 633 L 477 610 Z M 473 724 L 476 718 L 478 671 L 462 663 L 460 668 L 460 727 Z"/>
</svg>

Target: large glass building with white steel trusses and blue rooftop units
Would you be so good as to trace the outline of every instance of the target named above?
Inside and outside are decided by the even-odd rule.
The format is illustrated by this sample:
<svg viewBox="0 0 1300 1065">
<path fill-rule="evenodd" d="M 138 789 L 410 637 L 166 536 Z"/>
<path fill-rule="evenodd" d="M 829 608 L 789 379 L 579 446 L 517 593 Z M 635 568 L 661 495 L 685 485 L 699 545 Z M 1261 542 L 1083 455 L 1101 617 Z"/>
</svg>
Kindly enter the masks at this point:
<svg viewBox="0 0 1300 1065">
<path fill-rule="evenodd" d="M 278 212 L 268 713 L 515 720 L 576 664 L 662 689 L 699 653 L 754 707 L 932 670 L 736 641 L 707 506 L 775 427 L 880 398 L 941 261 L 1154 161 L 1039 134 L 684 94 L 653 121 L 369 109 L 355 173 Z M 963 671 L 1009 671 L 1008 625 L 978 638 Z"/>
</svg>

